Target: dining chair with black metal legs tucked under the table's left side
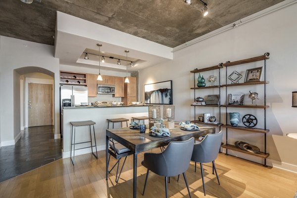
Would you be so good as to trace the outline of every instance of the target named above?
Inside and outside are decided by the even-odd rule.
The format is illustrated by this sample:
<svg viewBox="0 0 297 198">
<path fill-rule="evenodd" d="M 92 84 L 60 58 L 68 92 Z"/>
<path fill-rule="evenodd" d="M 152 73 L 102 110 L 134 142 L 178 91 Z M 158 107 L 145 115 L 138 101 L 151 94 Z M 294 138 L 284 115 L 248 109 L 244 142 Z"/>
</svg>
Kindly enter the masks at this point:
<svg viewBox="0 0 297 198">
<path fill-rule="evenodd" d="M 122 173 L 122 170 L 123 170 L 123 167 L 125 165 L 127 156 L 132 155 L 133 153 L 130 151 L 130 149 L 121 145 L 118 142 L 115 142 L 112 138 L 108 138 L 108 140 L 109 140 L 109 149 L 108 149 L 109 157 L 108 157 L 108 161 L 107 161 L 107 168 L 109 166 L 110 156 L 117 159 L 117 162 L 112 166 L 112 168 L 110 170 L 108 170 L 108 173 L 110 173 L 112 171 L 112 169 L 117 165 L 116 174 L 115 174 L 115 182 L 118 183 L 119 178 Z M 125 157 L 125 159 L 122 164 L 120 172 L 118 172 L 119 166 L 120 166 L 120 160 L 123 157 Z"/>
</svg>

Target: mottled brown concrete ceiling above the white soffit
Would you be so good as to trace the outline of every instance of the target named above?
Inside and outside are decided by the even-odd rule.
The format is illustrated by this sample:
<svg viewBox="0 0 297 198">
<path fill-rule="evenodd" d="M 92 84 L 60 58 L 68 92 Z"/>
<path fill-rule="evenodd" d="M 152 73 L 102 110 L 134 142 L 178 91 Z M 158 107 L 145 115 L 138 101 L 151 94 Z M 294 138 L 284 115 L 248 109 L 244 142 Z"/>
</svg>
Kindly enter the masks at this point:
<svg viewBox="0 0 297 198">
<path fill-rule="evenodd" d="M 168 47 L 176 47 L 283 0 L 0 0 L 0 35 L 54 45 L 61 11 Z"/>
</svg>

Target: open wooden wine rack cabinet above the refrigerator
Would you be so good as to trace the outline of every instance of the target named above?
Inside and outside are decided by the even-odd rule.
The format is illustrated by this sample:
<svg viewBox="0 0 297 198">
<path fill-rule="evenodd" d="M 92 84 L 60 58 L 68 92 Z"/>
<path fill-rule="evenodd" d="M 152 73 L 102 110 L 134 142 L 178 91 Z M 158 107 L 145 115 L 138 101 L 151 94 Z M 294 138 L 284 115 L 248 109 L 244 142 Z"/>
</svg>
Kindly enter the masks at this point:
<svg viewBox="0 0 297 198">
<path fill-rule="evenodd" d="M 86 74 L 60 71 L 60 84 L 87 85 Z"/>
</svg>

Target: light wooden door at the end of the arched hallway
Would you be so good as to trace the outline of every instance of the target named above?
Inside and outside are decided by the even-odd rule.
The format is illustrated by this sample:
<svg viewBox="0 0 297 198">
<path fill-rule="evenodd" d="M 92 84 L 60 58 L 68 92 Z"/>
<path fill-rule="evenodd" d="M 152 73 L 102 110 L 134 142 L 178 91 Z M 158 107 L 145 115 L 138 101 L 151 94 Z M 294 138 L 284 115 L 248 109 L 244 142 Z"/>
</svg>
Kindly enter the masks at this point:
<svg viewBox="0 0 297 198">
<path fill-rule="evenodd" d="M 29 127 L 52 125 L 52 85 L 29 83 L 28 108 Z"/>
</svg>

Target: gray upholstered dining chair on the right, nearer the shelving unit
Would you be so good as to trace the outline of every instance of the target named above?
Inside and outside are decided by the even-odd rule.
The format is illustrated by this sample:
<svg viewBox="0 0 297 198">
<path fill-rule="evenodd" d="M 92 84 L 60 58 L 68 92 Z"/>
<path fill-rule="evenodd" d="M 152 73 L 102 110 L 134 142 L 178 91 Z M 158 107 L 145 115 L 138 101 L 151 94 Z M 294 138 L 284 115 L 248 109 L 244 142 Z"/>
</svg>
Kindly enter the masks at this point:
<svg viewBox="0 0 297 198">
<path fill-rule="evenodd" d="M 205 185 L 204 185 L 203 164 L 202 163 L 212 162 L 212 174 L 213 174 L 213 169 L 214 169 L 216 178 L 220 185 L 219 176 L 218 176 L 216 168 L 215 168 L 214 160 L 217 158 L 218 153 L 220 151 L 222 137 L 223 137 L 222 131 L 220 131 L 219 133 L 207 134 L 201 142 L 194 145 L 194 150 L 193 150 L 191 160 L 195 161 L 195 172 L 196 172 L 196 163 L 197 162 L 200 163 L 204 196 L 205 196 Z"/>
</svg>

